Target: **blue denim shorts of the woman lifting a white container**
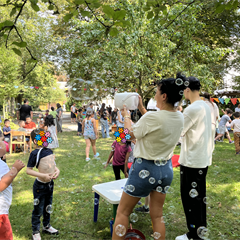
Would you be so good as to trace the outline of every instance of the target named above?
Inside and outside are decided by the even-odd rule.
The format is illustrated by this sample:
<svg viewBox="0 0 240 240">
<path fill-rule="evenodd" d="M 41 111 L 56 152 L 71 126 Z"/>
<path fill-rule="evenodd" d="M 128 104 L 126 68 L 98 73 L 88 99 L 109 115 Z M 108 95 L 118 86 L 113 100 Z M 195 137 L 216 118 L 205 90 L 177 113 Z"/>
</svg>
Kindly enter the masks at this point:
<svg viewBox="0 0 240 240">
<path fill-rule="evenodd" d="M 167 193 L 173 180 L 172 161 L 135 158 L 124 192 L 132 197 L 147 197 L 151 191 Z"/>
</svg>

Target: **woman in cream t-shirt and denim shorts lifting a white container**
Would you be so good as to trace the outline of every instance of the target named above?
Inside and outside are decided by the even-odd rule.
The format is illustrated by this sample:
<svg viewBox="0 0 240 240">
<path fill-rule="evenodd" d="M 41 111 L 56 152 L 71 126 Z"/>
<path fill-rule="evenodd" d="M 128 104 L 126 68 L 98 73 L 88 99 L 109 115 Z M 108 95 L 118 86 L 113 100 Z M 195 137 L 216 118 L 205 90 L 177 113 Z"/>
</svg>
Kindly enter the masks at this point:
<svg viewBox="0 0 240 240">
<path fill-rule="evenodd" d="M 140 198 L 150 194 L 150 216 L 155 239 L 165 239 L 163 204 L 173 179 L 171 157 L 183 129 L 183 114 L 174 104 L 182 99 L 185 76 L 163 79 L 157 84 L 155 99 L 161 111 L 149 111 L 139 97 L 140 120 L 131 126 L 131 116 L 124 107 L 124 128 L 131 139 L 137 139 L 133 155 L 135 161 L 117 210 L 113 240 L 124 239 L 128 217 Z M 147 170 L 146 170 L 147 169 Z"/>
</svg>

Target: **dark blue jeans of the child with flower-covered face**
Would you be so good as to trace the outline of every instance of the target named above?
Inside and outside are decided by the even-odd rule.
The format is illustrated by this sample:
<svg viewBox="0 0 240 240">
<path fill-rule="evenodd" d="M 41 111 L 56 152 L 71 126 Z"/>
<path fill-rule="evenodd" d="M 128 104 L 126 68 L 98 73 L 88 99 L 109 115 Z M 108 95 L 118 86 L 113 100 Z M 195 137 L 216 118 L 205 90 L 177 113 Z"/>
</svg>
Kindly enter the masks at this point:
<svg viewBox="0 0 240 240">
<path fill-rule="evenodd" d="M 50 214 L 46 211 L 48 205 L 52 205 L 53 197 L 53 180 L 48 183 L 39 182 L 37 179 L 33 184 L 34 209 L 32 212 L 32 231 L 33 233 L 40 231 L 40 217 L 43 215 L 43 226 L 46 227 L 50 223 Z M 38 199 L 38 200 L 36 200 Z"/>
</svg>

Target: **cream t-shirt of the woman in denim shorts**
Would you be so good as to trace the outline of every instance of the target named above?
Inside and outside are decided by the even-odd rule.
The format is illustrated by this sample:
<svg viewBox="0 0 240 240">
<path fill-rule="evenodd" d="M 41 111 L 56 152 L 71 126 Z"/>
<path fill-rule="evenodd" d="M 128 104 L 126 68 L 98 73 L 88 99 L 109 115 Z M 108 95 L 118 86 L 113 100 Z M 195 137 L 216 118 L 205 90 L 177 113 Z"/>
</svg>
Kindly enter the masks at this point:
<svg viewBox="0 0 240 240">
<path fill-rule="evenodd" d="M 133 155 L 147 160 L 169 160 L 181 136 L 183 114 L 165 110 L 145 113 L 133 125 L 137 139 Z"/>
</svg>

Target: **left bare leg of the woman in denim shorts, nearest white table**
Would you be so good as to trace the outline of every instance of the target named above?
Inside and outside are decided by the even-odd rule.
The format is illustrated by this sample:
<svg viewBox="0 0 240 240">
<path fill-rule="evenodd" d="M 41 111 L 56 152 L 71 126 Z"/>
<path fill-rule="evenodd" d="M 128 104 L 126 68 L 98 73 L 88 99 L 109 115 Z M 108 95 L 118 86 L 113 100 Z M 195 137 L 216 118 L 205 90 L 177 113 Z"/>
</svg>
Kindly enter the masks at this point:
<svg viewBox="0 0 240 240">
<path fill-rule="evenodd" d="M 122 198 L 120 200 L 118 210 L 117 210 L 117 216 L 116 220 L 113 226 L 113 236 L 112 240 L 121 240 L 124 239 L 123 237 L 119 237 L 116 232 L 116 226 L 121 224 L 125 227 L 126 231 L 128 229 L 128 217 L 132 213 L 132 210 L 134 206 L 137 204 L 137 202 L 140 200 L 140 198 L 137 197 L 131 197 L 125 192 L 122 194 Z"/>
</svg>

